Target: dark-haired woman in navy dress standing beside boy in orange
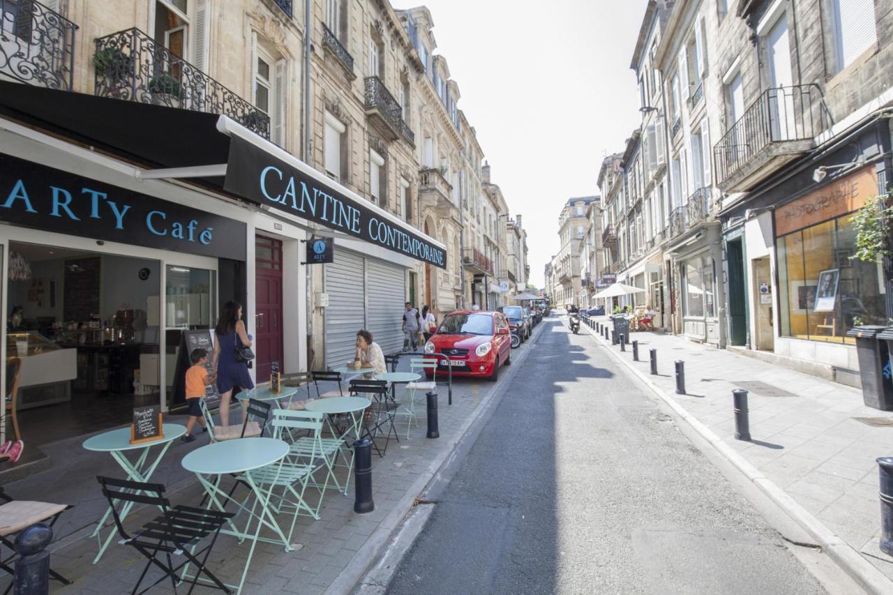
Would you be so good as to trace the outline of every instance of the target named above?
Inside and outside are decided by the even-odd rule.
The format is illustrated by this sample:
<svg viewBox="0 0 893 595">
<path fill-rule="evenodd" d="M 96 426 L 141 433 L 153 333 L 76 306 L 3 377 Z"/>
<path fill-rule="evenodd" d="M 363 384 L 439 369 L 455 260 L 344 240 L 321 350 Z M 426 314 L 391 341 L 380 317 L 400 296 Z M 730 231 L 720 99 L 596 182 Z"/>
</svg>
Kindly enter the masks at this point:
<svg viewBox="0 0 893 595">
<path fill-rule="evenodd" d="M 230 399 L 232 390 L 238 387 L 241 390 L 255 388 L 248 374 L 246 362 L 236 359 L 236 341 L 240 341 L 245 347 L 251 347 L 251 339 L 242 322 L 242 305 L 238 302 L 227 302 L 223 305 L 221 318 L 214 329 L 214 361 L 213 368 L 217 371 L 217 390 L 221 394 L 221 425 L 230 425 Z M 242 407 L 242 422 L 245 422 L 246 408 Z"/>
</svg>

